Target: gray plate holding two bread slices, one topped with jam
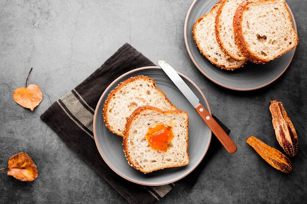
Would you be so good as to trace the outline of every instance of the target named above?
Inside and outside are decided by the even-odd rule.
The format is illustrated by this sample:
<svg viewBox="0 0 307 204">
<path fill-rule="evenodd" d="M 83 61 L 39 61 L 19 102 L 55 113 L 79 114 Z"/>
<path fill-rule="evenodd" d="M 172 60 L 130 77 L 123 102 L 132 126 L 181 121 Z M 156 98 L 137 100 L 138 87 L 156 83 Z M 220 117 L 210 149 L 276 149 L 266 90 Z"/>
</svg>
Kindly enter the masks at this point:
<svg viewBox="0 0 307 204">
<path fill-rule="evenodd" d="M 202 91 L 179 75 L 210 113 Z M 185 177 L 205 157 L 211 141 L 210 129 L 159 67 L 136 68 L 111 83 L 97 104 L 93 128 L 109 167 L 143 185 Z"/>
</svg>

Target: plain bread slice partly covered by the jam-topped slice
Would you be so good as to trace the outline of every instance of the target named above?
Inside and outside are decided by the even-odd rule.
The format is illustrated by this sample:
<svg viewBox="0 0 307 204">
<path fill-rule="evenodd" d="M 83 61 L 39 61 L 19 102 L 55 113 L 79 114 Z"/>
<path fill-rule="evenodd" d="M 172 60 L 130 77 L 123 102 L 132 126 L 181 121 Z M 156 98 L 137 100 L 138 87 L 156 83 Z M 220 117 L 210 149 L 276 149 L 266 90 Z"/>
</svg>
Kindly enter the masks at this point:
<svg viewBox="0 0 307 204">
<path fill-rule="evenodd" d="M 124 136 L 130 114 L 140 106 L 150 105 L 162 111 L 177 110 L 166 95 L 156 88 L 152 78 L 131 77 L 110 92 L 103 104 L 105 126 L 118 136 Z"/>
</svg>

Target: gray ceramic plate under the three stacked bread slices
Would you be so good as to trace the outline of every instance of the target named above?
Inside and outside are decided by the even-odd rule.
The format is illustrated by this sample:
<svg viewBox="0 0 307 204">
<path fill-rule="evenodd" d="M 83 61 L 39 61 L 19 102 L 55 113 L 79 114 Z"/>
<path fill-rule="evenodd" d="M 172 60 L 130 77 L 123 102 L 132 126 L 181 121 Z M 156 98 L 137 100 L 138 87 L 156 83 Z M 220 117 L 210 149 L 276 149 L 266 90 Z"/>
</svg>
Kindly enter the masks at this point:
<svg viewBox="0 0 307 204">
<path fill-rule="evenodd" d="M 187 51 L 194 65 L 211 81 L 228 89 L 248 91 L 267 86 L 278 79 L 289 67 L 294 56 L 295 48 L 265 65 L 247 63 L 243 68 L 234 71 L 223 70 L 212 65 L 200 53 L 193 40 L 192 29 L 196 20 L 208 13 L 218 0 L 195 0 L 185 19 L 184 40 Z M 292 23 L 297 31 L 295 19 L 288 7 Z"/>
</svg>

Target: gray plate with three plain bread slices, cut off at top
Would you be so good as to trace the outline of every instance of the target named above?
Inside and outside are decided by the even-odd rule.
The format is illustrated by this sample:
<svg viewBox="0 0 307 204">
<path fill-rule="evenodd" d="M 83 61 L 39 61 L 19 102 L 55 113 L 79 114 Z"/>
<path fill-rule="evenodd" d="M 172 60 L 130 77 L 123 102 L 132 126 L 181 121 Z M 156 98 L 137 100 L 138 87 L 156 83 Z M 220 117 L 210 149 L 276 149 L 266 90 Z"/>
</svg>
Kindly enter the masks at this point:
<svg viewBox="0 0 307 204">
<path fill-rule="evenodd" d="M 238 91 L 278 79 L 298 44 L 295 19 L 284 0 L 194 0 L 184 40 L 208 79 Z"/>
</svg>

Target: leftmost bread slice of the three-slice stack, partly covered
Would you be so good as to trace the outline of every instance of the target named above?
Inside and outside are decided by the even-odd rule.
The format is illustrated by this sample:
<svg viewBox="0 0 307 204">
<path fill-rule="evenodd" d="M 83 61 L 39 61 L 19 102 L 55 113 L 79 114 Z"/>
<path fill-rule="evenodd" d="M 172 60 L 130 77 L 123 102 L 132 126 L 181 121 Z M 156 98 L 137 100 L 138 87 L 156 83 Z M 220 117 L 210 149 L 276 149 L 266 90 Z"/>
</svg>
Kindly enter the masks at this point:
<svg viewBox="0 0 307 204">
<path fill-rule="evenodd" d="M 243 67 L 246 63 L 245 60 L 235 60 L 230 56 L 227 56 L 215 37 L 215 17 L 220 7 L 220 1 L 216 3 L 211 11 L 205 16 L 199 18 L 193 26 L 193 38 L 200 49 L 201 53 L 214 65 L 232 70 L 235 68 Z"/>
</svg>

